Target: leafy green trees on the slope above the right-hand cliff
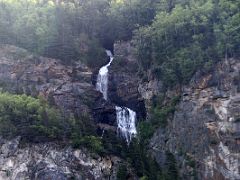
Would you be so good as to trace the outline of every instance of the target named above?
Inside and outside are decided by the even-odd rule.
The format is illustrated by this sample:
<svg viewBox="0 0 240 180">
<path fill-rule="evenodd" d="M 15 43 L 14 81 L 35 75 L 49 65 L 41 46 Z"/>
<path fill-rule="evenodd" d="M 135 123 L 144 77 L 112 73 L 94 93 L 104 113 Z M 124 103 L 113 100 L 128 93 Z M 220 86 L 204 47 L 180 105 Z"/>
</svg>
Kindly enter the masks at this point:
<svg viewBox="0 0 240 180">
<path fill-rule="evenodd" d="M 239 55 L 239 2 L 162 1 L 153 23 L 135 32 L 140 70 L 166 86 L 187 83 L 199 69 Z"/>
</svg>

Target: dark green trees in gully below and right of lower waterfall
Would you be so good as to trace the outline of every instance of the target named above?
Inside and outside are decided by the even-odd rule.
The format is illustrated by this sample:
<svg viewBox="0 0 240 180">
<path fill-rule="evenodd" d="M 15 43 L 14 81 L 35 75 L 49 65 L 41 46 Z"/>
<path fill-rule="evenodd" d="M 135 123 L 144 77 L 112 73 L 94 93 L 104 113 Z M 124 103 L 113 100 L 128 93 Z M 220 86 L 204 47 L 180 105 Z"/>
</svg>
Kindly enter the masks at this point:
<svg viewBox="0 0 240 180">
<path fill-rule="evenodd" d="M 175 106 L 179 102 L 180 97 L 173 97 L 169 103 L 163 105 L 163 96 L 155 97 L 153 101 L 154 111 L 150 121 L 142 121 L 138 123 L 138 137 L 134 139 L 128 147 L 122 144 L 115 151 L 117 155 L 127 159 L 131 164 L 138 177 L 142 179 L 171 179 L 178 178 L 177 166 L 174 156 L 167 154 L 167 168 L 163 172 L 156 160 L 148 154 L 149 139 L 159 127 L 165 127 L 167 117 L 174 112 Z M 121 152 L 121 153 L 119 153 Z"/>
</svg>

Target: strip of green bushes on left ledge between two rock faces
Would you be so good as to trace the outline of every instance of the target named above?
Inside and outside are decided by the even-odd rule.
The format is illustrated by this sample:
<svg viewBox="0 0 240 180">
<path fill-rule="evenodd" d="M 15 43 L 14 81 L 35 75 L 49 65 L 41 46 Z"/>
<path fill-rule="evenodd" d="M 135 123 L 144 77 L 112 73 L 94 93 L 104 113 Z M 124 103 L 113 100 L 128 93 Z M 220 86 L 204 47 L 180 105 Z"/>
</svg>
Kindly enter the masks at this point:
<svg viewBox="0 0 240 180">
<path fill-rule="evenodd" d="M 24 141 L 72 140 L 74 147 L 85 146 L 93 152 L 103 151 L 101 139 L 87 116 L 71 114 L 51 107 L 42 98 L 0 93 L 0 135 L 21 136 Z"/>
</svg>

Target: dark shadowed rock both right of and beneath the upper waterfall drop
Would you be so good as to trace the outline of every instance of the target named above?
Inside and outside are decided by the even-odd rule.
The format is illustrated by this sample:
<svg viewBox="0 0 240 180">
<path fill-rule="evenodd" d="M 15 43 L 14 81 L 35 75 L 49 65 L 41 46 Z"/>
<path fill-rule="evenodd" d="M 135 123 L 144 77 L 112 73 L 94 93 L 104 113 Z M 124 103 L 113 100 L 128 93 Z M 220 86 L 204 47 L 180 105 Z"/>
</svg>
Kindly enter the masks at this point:
<svg viewBox="0 0 240 180">
<path fill-rule="evenodd" d="M 146 109 L 144 99 L 138 91 L 140 79 L 137 76 L 137 60 L 129 42 L 114 44 L 114 60 L 109 67 L 108 102 L 103 98 L 95 102 L 95 119 L 102 129 L 116 131 L 115 106 L 125 106 L 136 111 L 137 119 L 144 120 Z M 97 72 L 93 75 L 96 83 Z"/>
</svg>

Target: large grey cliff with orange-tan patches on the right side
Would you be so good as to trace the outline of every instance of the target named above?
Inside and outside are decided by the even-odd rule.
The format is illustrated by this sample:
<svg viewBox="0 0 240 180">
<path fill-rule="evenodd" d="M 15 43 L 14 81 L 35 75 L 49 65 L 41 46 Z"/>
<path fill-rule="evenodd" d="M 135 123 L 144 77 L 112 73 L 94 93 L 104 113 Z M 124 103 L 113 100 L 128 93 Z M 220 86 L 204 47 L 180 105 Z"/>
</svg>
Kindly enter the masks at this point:
<svg viewBox="0 0 240 180">
<path fill-rule="evenodd" d="M 185 179 L 240 179 L 239 77 L 240 61 L 228 59 L 182 88 L 173 119 L 151 140 L 160 164 L 168 150 Z"/>
</svg>

